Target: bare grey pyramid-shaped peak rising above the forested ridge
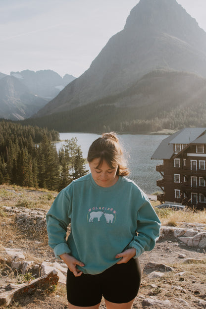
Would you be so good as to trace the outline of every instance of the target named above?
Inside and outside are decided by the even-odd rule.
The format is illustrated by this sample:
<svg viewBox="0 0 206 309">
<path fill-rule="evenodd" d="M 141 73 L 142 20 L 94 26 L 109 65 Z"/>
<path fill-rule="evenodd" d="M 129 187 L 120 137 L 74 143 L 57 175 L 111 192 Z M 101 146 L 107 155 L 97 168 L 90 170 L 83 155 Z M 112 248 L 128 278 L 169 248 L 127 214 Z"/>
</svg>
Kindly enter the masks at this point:
<svg viewBox="0 0 206 309">
<path fill-rule="evenodd" d="M 90 68 L 37 116 L 106 101 L 158 69 L 206 77 L 206 33 L 176 0 L 140 0 L 124 29 L 110 38 Z M 126 108 L 127 101 L 122 106 Z"/>
</svg>

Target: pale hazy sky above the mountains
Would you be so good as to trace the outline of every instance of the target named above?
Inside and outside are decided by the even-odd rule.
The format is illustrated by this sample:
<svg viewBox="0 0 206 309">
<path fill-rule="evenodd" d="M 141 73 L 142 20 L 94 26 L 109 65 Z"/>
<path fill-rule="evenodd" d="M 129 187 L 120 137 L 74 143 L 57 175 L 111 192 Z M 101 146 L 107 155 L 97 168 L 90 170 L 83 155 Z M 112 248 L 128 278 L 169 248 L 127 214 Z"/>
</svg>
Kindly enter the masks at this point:
<svg viewBox="0 0 206 309">
<path fill-rule="evenodd" d="M 0 0 L 0 72 L 80 76 L 139 0 Z M 177 0 L 206 31 L 206 0 Z"/>
</svg>

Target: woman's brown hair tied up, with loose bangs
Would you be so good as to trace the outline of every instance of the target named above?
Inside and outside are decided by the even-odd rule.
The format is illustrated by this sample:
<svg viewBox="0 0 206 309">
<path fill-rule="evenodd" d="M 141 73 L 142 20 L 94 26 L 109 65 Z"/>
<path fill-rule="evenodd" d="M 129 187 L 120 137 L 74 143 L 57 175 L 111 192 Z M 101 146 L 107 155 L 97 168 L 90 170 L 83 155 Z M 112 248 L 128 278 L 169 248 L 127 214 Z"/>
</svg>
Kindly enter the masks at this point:
<svg viewBox="0 0 206 309">
<path fill-rule="evenodd" d="M 129 174 L 122 148 L 114 132 L 103 133 L 102 137 L 92 143 L 87 160 L 92 162 L 96 158 L 100 158 L 98 167 L 105 160 L 110 168 L 115 168 L 118 165 L 116 175 L 126 176 Z"/>
</svg>

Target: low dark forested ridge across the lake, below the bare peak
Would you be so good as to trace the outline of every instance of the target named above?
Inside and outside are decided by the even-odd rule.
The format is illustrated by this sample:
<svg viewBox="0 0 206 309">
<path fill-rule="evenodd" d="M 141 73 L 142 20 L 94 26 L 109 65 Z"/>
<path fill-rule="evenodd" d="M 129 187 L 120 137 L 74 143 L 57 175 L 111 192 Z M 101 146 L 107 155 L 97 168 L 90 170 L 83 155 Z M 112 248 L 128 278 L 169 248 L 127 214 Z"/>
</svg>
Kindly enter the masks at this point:
<svg viewBox="0 0 206 309">
<path fill-rule="evenodd" d="M 25 120 L 59 132 L 156 132 L 205 126 L 206 79 L 157 70 L 127 90 L 71 111 Z"/>
</svg>

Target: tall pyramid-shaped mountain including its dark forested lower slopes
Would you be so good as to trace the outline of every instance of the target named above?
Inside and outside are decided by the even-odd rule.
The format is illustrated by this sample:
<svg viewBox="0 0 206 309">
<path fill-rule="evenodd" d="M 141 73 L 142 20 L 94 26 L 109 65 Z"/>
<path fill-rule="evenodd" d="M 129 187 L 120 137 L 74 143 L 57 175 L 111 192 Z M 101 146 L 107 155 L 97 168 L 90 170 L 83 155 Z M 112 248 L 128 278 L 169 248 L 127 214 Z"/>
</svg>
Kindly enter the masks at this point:
<svg viewBox="0 0 206 309">
<path fill-rule="evenodd" d="M 111 37 L 90 68 L 36 116 L 46 116 L 48 123 L 52 119 L 59 130 L 69 126 L 102 131 L 115 129 L 116 123 L 121 129 L 123 122 L 131 128 L 132 121 L 151 122 L 155 117 L 163 118 L 165 126 L 164 111 L 206 102 L 201 88 L 205 78 L 206 33 L 197 21 L 176 0 L 140 0 L 124 29 Z M 171 120 L 167 126 L 176 123 Z"/>
</svg>

